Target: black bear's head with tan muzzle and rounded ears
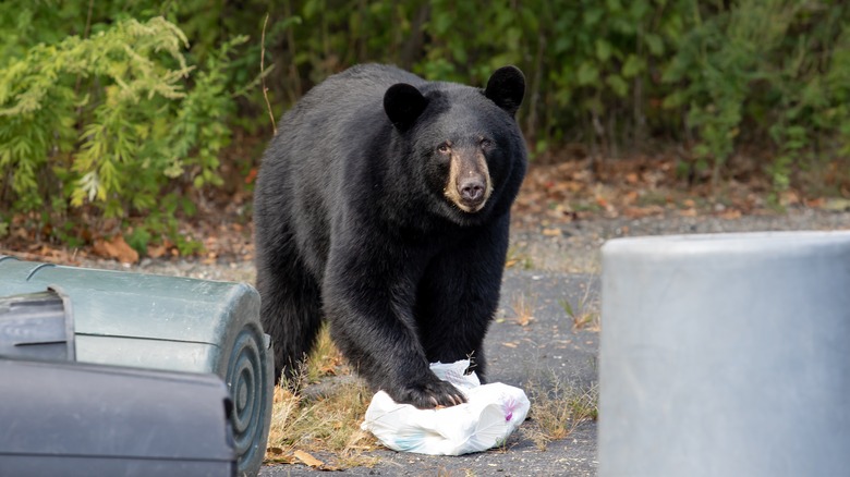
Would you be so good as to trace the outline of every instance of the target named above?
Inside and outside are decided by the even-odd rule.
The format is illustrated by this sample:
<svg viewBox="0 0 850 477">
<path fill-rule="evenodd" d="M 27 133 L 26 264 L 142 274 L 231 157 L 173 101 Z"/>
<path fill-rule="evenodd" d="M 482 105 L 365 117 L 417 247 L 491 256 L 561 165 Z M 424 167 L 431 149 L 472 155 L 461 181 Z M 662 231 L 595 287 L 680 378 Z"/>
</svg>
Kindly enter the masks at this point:
<svg viewBox="0 0 850 477">
<path fill-rule="evenodd" d="M 510 206 L 525 174 L 525 143 L 514 120 L 525 93 L 515 66 L 497 70 L 484 89 L 453 83 L 399 83 L 384 110 L 412 150 L 441 215 L 475 222 Z"/>
</svg>

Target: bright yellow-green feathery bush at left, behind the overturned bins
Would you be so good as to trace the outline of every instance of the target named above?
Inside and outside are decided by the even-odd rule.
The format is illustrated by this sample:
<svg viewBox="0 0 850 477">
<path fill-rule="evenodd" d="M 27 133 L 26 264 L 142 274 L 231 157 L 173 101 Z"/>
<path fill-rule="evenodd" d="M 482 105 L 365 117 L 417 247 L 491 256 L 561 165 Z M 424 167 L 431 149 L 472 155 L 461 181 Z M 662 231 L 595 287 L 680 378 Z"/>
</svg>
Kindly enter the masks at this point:
<svg viewBox="0 0 850 477">
<path fill-rule="evenodd" d="M 222 182 L 218 154 L 234 110 L 228 57 L 245 41 L 222 44 L 197 71 L 187 65 L 185 35 L 157 16 L 13 58 L 0 72 L 0 174 L 11 185 L 0 201 L 24 213 L 49 206 L 42 221 L 60 225 L 82 207 L 105 218 L 148 215 L 134 241 L 144 249 L 161 229 L 162 197 L 177 197 L 175 179 L 195 187 Z M 182 241 L 173 223 L 156 231 Z"/>
</svg>

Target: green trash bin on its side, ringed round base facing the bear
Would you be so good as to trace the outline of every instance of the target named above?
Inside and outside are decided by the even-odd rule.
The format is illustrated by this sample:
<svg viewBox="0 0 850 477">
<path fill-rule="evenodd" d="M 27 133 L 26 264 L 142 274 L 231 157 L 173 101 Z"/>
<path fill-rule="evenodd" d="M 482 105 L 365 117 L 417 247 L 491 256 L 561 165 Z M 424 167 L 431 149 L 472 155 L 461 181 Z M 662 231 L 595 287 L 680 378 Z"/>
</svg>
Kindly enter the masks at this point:
<svg viewBox="0 0 850 477">
<path fill-rule="evenodd" d="M 271 419 L 274 365 L 254 288 L 0 256 L 0 296 L 50 288 L 61 289 L 73 305 L 77 362 L 221 377 L 234 403 L 239 474 L 259 472 Z"/>
</svg>

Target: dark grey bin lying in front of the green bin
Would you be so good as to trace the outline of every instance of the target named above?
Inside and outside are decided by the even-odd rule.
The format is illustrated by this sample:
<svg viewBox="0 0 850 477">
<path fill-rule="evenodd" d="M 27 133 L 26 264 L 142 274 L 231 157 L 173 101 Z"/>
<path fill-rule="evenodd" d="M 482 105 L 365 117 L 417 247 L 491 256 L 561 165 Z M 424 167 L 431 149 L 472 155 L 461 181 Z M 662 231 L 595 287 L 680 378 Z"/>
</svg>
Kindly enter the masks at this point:
<svg viewBox="0 0 850 477">
<path fill-rule="evenodd" d="M 0 359 L 0 475 L 236 475 L 214 375 Z"/>
</svg>

